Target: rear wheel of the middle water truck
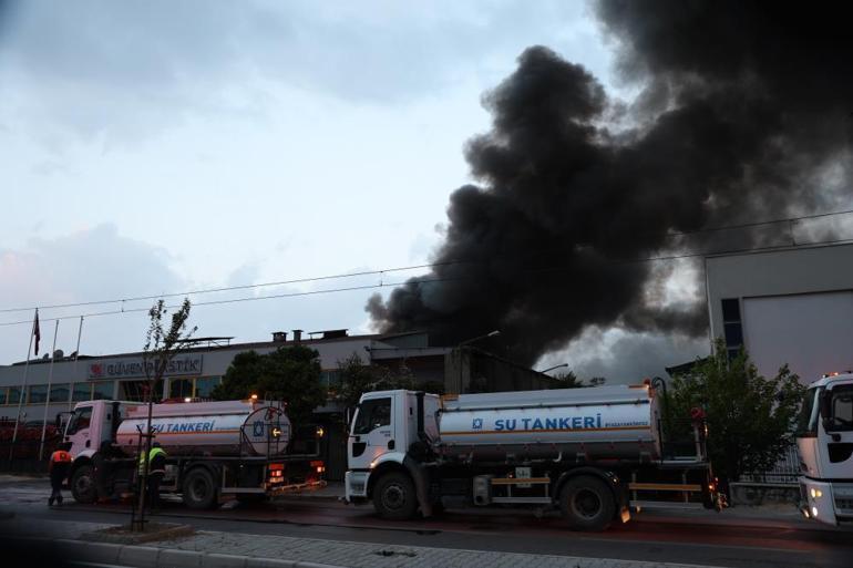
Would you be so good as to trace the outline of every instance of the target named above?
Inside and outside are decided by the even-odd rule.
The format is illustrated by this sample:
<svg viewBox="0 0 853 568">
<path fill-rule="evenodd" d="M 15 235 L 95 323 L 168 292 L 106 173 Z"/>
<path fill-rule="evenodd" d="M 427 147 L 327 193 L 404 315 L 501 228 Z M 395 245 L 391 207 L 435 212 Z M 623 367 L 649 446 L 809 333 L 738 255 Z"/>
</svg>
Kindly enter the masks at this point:
<svg viewBox="0 0 853 568">
<path fill-rule="evenodd" d="M 579 475 L 559 492 L 559 510 L 573 530 L 604 530 L 613 521 L 616 502 L 604 481 Z"/>
</svg>

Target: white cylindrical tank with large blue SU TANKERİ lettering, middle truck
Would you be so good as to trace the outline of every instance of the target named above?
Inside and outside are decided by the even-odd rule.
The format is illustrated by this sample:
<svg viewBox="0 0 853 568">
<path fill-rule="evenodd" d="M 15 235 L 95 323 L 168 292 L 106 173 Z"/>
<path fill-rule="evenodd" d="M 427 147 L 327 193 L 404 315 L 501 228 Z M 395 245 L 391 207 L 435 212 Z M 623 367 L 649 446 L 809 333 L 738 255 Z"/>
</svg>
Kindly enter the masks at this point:
<svg viewBox="0 0 853 568">
<path fill-rule="evenodd" d="M 462 394 L 444 399 L 436 450 L 463 459 L 660 458 L 648 386 Z"/>
</svg>

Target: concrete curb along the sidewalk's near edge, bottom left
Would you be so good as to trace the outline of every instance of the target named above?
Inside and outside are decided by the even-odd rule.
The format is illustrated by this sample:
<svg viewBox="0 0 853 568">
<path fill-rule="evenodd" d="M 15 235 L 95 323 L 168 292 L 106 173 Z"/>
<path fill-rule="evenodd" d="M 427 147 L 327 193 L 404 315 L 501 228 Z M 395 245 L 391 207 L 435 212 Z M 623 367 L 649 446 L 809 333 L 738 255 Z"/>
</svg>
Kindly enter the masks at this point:
<svg viewBox="0 0 853 568">
<path fill-rule="evenodd" d="M 235 556 L 153 546 L 115 545 L 71 539 L 32 538 L 54 546 L 72 561 L 122 565 L 134 568 L 346 568 L 328 564 L 280 560 L 255 556 Z"/>
</svg>

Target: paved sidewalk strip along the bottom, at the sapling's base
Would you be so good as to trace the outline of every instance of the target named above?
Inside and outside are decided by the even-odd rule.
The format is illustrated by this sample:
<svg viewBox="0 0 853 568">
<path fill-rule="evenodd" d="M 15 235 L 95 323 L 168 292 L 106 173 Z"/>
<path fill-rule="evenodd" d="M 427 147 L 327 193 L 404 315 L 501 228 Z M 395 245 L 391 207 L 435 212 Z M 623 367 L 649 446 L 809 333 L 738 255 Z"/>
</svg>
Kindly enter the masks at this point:
<svg viewBox="0 0 853 568">
<path fill-rule="evenodd" d="M 54 547 L 64 559 L 101 565 L 164 568 L 697 568 L 696 565 L 644 562 L 535 554 L 507 554 L 294 538 L 276 535 L 199 531 L 175 540 L 123 546 L 81 540 L 109 525 L 62 520 L 0 520 L 0 531 L 19 543 Z M 47 539 L 43 535 L 55 535 Z M 699 567 L 701 568 L 701 567 Z"/>
</svg>

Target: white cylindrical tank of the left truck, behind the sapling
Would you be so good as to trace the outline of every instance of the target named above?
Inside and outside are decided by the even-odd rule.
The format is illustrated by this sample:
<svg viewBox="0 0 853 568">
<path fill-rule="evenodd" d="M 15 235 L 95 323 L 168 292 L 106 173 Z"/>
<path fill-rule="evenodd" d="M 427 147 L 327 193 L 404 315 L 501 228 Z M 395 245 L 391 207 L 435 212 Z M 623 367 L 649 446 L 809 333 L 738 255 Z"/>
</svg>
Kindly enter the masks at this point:
<svg viewBox="0 0 853 568">
<path fill-rule="evenodd" d="M 135 454 L 147 423 L 146 405 L 129 406 L 115 441 Z M 172 455 L 281 455 L 290 441 L 290 420 L 276 403 L 264 401 L 154 404 L 154 440 Z"/>
</svg>

